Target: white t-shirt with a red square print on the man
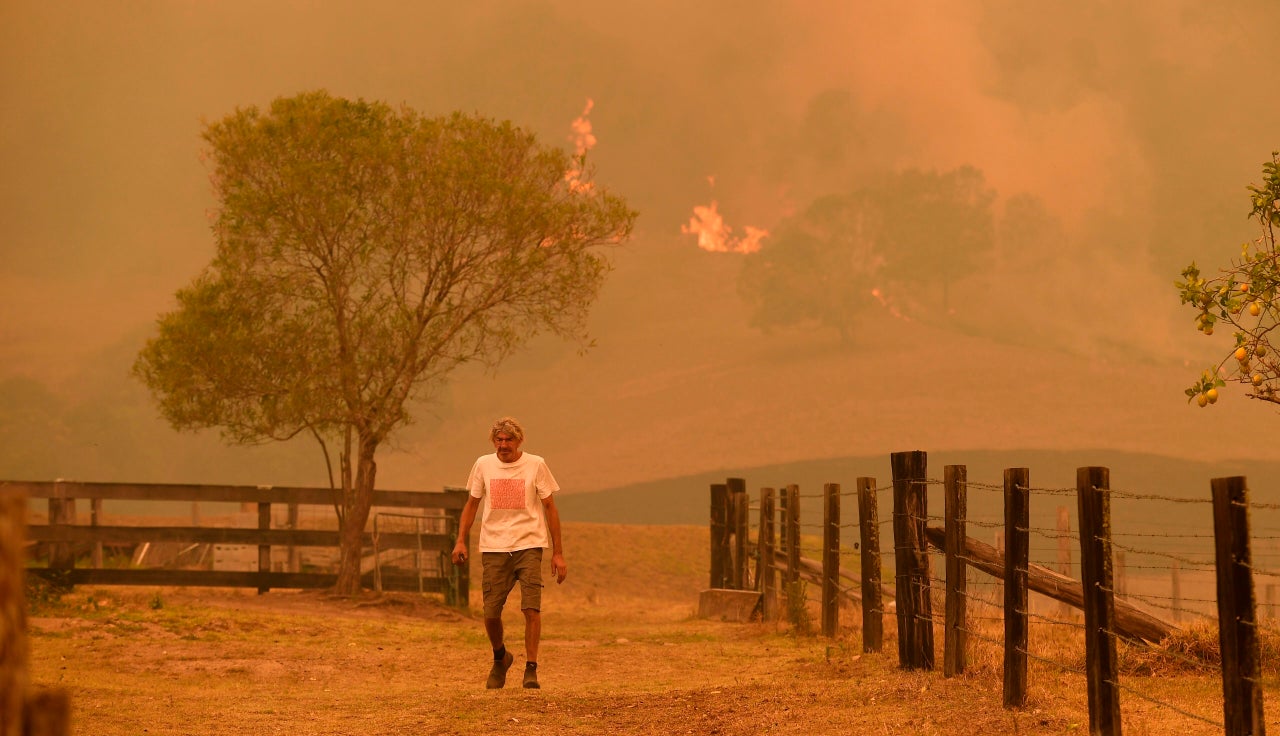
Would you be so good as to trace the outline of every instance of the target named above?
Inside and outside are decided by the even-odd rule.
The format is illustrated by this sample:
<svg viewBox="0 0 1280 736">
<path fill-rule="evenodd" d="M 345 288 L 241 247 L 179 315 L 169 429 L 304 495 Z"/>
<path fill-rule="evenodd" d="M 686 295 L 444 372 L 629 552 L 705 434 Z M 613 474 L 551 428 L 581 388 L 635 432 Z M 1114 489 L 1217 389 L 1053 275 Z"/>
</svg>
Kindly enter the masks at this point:
<svg viewBox="0 0 1280 736">
<path fill-rule="evenodd" d="M 547 461 L 531 453 L 506 463 L 497 453 L 480 456 L 467 490 L 483 500 L 480 552 L 516 552 L 550 547 L 543 499 L 559 490 Z"/>
</svg>

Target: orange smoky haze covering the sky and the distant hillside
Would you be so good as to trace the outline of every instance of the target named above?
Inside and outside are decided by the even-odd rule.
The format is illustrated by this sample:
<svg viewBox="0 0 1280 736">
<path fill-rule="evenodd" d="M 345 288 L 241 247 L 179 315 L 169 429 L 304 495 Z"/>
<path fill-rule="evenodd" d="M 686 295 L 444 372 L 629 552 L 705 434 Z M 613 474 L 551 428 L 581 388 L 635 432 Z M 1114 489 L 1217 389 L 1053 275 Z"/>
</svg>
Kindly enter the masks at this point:
<svg viewBox="0 0 1280 736">
<path fill-rule="evenodd" d="M 0 475 L 325 481 L 312 447 L 174 434 L 128 378 L 214 253 L 202 124 L 315 88 L 566 147 L 591 100 L 598 180 L 641 212 L 599 344 L 458 372 L 379 485 L 463 481 L 504 413 L 568 490 L 897 449 L 1280 458 L 1247 439 L 1274 410 L 1187 407 L 1225 343 L 1172 289 L 1254 237 L 1276 27 L 1270 0 L 4 4 Z M 945 307 L 884 284 L 901 308 L 847 346 L 750 328 L 744 256 L 681 232 L 712 201 L 769 230 L 886 172 L 960 166 L 996 193 L 988 261 Z"/>
</svg>

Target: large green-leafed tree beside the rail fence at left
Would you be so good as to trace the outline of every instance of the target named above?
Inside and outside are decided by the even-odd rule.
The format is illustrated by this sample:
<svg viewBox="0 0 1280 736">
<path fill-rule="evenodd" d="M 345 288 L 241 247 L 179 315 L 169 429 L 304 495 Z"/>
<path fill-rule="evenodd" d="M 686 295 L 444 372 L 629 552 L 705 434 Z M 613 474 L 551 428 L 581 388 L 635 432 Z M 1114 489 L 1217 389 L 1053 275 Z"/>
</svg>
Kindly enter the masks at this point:
<svg viewBox="0 0 1280 736">
<path fill-rule="evenodd" d="M 636 214 L 580 157 L 472 115 L 307 92 L 204 140 L 216 255 L 134 372 L 178 429 L 337 449 L 337 591 L 353 594 L 375 457 L 411 404 L 539 332 L 585 339 L 599 247 Z"/>
</svg>

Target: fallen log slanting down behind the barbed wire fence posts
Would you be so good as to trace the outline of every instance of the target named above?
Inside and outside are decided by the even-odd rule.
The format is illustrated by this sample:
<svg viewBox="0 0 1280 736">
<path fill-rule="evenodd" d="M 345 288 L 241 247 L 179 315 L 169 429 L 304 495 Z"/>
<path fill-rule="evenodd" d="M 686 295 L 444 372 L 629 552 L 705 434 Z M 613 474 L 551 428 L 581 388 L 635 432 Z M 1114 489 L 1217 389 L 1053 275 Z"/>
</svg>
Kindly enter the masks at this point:
<svg viewBox="0 0 1280 736">
<path fill-rule="evenodd" d="M 946 532 L 937 526 L 924 530 L 929 544 L 940 550 L 945 548 Z M 992 577 L 1005 579 L 1005 556 L 995 547 L 983 544 L 969 536 L 964 543 L 965 562 Z M 1084 608 L 1084 585 L 1079 580 L 1073 580 L 1060 572 L 1047 567 L 1030 563 L 1027 566 L 1027 588 L 1047 595 L 1053 600 L 1060 600 L 1075 608 Z M 1172 634 L 1178 627 L 1167 621 L 1137 608 L 1123 598 L 1115 599 L 1116 634 L 1130 640 L 1160 643 L 1161 639 Z"/>
</svg>

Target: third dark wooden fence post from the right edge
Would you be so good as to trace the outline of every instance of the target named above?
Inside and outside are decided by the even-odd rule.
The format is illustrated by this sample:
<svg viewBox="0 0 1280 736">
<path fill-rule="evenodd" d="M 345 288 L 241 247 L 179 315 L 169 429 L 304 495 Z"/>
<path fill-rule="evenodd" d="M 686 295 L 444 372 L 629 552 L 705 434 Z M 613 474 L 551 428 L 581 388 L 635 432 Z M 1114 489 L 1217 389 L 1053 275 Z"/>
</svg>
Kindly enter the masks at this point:
<svg viewBox="0 0 1280 736">
<path fill-rule="evenodd" d="M 1029 486 L 1025 467 L 1005 470 L 1005 708 L 1027 705 Z"/>
</svg>

